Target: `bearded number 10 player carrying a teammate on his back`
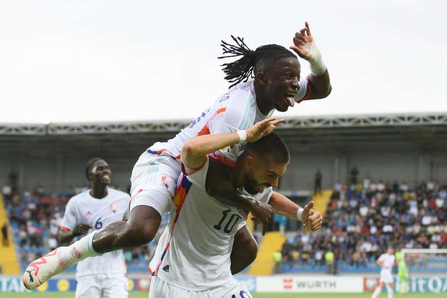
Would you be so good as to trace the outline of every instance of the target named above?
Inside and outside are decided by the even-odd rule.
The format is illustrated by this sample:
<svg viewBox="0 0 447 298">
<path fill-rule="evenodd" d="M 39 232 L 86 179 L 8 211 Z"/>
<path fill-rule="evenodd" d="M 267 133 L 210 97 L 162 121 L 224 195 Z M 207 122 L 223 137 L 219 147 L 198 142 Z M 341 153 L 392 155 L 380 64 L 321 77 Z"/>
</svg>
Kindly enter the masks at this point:
<svg viewBox="0 0 447 298">
<path fill-rule="evenodd" d="M 208 154 L 246 139 L 247 147 L 236 160 L 231 180 L 239 191 L 267 203 L 272 186 L 278 184 L 290 161 L 286 144 L 278 135 L 270 134 L 281 121 L 274 119 L 263 120 L 246 133 L 201 136 L 185 143 L 181 151 L 183 174 L 168 224 L 149 265 L 154 276 L 149 298 L 251 297 L 230 271 L 233 237 L 246 228 L 246 213 L 208 195 L 206 189 L 217 183 L 208 176 L 216 163 Z M 275 210 L 275 205 L 272 207 Z M 311 217 L 321 218 L 317 212 Z"/>
</svg>

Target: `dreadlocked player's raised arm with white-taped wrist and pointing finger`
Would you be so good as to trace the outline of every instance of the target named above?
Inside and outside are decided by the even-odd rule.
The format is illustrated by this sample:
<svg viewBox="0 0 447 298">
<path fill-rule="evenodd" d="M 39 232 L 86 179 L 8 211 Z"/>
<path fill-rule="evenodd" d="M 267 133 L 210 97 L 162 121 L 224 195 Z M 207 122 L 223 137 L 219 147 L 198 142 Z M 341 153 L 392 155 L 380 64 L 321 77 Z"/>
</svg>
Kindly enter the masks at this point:
<svg viewBox="0 0 447 298">
<path fill-rule="evenodd" d="M 290 46 L 290 49 L 310 64 L 311 74 L 308 75 L 310 92 L 304 99 L 327 97 L 332 91 L 329 72 L 323 63 L 321 52 L 310 34 L 310 27 L 307 22 L 305 22 L 304 28 L 295 33 L 294 45 Z"/>
</svg>

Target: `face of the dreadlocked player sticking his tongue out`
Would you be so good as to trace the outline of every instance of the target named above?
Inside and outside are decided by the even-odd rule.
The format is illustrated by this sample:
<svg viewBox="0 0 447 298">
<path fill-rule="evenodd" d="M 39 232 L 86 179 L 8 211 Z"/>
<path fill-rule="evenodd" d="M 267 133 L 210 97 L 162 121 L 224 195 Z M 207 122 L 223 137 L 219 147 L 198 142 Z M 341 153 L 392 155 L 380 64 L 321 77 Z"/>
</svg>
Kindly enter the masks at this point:
<svg viewBox="0 0 447 298">
<path fill-rule="evenodd" d="M 263 86 L 264 96 L 278 111 L 285 112 L 295 105 L 300 72 L 298 59 L 288 57 L 256 74 L 257 83 Z"/>
</svg>

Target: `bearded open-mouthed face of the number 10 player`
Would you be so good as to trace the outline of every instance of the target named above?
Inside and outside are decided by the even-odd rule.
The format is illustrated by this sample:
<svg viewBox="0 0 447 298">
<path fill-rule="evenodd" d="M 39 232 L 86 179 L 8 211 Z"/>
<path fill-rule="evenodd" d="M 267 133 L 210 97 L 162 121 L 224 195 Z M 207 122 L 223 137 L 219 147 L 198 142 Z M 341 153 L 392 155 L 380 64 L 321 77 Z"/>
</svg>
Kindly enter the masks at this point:
<svg viewBox="0 0 447 298">
<path fill-rule="evenodd" d="M 250 154 L 243 163 L 244 188 L 251 194 L 262 193 L 265 188 L 277 187 L 279 177 L 286 172 L 289 162 L 277 162 L 272 156 Z"/>
</svg>

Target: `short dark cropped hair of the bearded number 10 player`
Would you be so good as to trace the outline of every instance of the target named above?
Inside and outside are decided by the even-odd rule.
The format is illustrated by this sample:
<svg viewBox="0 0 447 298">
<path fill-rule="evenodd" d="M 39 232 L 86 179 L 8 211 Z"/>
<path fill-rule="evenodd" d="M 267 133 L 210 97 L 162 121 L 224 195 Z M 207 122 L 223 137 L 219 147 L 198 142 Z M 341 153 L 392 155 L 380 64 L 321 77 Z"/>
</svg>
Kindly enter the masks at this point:
<svg viewBox="0 0 447 298">
<path fill-rule="evenodd" d="M 263 137 L 254 143 L 247 143 L 245 149 L 249 152 L 256 152 L 262 156 L 271 156 L 276 162 L 289 163 L 290 153 L 283 139 L 275 133 Z"/>
</svg>

